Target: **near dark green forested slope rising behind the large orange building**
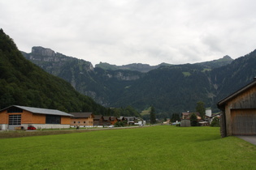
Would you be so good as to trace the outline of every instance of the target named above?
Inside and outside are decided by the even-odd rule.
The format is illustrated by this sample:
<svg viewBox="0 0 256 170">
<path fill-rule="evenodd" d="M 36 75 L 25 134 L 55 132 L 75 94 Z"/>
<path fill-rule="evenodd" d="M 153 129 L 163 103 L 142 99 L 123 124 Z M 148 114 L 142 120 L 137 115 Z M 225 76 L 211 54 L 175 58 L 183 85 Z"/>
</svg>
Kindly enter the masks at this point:
<svg viewBox="0 0 256 170">
<path fill-rule="evenodd" d="M 19 104 L 64 112 L 106 113 L 106 108 L 80 95 L 70 83 L 46 73 L 24 58 L 0 30 L 0 108 Z"/>
</svg>

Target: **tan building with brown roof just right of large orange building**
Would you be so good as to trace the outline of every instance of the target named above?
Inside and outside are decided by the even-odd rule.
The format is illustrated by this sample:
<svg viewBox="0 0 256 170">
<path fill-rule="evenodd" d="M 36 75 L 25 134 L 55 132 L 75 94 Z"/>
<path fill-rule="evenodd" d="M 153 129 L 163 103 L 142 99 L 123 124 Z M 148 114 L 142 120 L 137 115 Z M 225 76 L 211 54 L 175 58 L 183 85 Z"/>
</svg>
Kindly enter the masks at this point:
<svg viewBox="0 0 256 170">
<path fill-rule="evenodd" d="M 93 113 L 70 113 L 73 115 L 71 118 L 71 126 L 80 127 L 93 127 Z"/>
</svg>

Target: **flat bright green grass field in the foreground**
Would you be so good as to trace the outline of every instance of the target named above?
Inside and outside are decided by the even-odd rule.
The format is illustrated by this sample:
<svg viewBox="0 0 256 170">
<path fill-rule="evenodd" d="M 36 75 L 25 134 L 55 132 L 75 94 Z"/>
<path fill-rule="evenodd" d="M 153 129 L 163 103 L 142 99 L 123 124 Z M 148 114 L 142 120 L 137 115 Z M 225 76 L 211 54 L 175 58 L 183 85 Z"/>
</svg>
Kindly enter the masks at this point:
<svg viewBox="0 0 256 170">
<path fill-rule="evenodd" d="M 0 169 L 255 169 L 256 146 L 215 127 L 150 126 L 0 139 Z"/>
</svg>

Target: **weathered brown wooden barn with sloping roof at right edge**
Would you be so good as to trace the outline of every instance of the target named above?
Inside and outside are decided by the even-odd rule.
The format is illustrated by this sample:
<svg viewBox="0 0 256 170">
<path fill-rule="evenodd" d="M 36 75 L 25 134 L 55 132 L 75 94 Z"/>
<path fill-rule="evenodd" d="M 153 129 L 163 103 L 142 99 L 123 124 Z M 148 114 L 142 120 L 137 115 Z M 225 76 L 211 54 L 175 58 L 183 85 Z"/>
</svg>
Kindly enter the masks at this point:
<svg viewBox="0 0 256 170">
<path fill-rule="evenodd" d="M 220 100 L 221 135 L 256 135 L 256 79 Z"/>
</svg>

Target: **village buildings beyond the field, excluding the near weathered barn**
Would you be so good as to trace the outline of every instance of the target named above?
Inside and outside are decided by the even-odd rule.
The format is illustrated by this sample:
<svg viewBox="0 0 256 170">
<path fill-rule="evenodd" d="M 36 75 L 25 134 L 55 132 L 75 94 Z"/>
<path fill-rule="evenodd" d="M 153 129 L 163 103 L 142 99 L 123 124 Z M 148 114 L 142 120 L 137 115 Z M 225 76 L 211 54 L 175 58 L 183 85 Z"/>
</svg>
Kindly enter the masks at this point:
<svg viewBox="0 0 256 170">
<path fill-rule="evenodd" d="M 213 117 L 210 110 L 206 110 L 205 121 L 199 113 L 182 113 L 181 121 L 171 122 L 170 119 L 161 124 L 190 126 L 190 117 L 197 115 L 198 125 L 210 125 Z M 146 125 L 141 117 L 113 117 L 94 115 L 93 113 L 64 113 L 47 108 L 32 108 L 12 105 L 0 110 L 0 130 L 41 130 L 41 129 L 68 129 L 116 127 L 127 125 Z"/>
</svg>

